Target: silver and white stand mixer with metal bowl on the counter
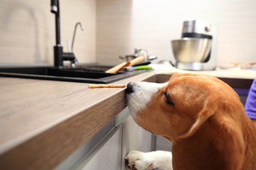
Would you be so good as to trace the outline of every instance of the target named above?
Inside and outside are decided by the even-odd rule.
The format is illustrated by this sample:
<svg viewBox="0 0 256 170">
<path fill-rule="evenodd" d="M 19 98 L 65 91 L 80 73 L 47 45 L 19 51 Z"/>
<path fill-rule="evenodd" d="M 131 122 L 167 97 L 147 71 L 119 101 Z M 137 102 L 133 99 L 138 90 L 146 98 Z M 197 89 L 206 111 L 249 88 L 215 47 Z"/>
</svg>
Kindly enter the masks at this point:
<svg viewBox="0 0 256 170">
<path fill-rule="evenodd" d="M 215 23 L 184 21 L 181 39 L 171 41 L 175 67 L 187 70 L 215 69 L 216 35 Z"/>
</svg>

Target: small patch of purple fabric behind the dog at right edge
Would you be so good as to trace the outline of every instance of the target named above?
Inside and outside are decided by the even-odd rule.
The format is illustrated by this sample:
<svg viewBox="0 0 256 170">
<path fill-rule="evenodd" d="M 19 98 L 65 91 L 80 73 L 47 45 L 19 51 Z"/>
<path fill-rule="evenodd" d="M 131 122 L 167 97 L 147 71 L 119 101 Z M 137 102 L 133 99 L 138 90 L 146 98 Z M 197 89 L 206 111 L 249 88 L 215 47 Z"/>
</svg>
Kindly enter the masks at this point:
<svg viewBox="0 0 256 170">
<path fill-rule="evenodd" d="M 249 118 L 256 119 L 256 79 L 252 82 L 250 91 L 245 103 L 245 113 Z"/>
</svg>

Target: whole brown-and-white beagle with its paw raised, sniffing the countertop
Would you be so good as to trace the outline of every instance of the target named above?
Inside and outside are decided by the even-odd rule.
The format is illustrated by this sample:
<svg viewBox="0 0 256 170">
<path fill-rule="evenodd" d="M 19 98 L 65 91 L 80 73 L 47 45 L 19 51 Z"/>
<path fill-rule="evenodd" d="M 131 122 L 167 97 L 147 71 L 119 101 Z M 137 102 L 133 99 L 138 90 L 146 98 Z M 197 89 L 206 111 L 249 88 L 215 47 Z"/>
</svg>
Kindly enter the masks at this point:
<svg viewBox="0 0 256 170">
<path fill-rule="evenodd" d="M 220 79 L 174 74 L 164 84 L 131 82 L 127 101 L 138 125 L 172 142 L 169 153 L 129 152 L 130 168 L 256 170 L 255 125 Z"/>
</svg>

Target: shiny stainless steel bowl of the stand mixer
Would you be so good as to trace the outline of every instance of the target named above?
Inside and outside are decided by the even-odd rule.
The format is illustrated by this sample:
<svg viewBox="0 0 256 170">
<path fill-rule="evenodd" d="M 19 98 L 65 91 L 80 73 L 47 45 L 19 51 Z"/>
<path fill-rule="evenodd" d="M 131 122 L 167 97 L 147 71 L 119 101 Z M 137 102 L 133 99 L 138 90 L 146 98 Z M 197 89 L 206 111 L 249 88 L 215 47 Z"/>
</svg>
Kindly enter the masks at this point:
<svg viewBox="0 0 256 170">
<path fill-rule="evenodd" d="M 172 40 L 171 47 L 176 62 L 203 62 L 210 52 L 211 40 L 207 38 L 182 38 Z"/>
</svg>

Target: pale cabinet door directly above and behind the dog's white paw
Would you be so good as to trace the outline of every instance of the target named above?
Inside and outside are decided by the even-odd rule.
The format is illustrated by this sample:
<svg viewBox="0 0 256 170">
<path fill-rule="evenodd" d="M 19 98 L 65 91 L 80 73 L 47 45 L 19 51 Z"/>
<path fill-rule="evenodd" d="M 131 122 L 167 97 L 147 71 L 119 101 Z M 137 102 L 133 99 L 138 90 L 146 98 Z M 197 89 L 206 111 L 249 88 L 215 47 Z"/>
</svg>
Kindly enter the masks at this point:
<svg viewBox="0 0 256 170">
<path fill-rule="evenodd" d="M 125 169 L 124 157 L 129 151 L 139 150 L 142 152 L 151 152 L 154 149 L 154 137 L 151 132 L 139 127 L 131 116 L 127 118 L 123 125 L 122 140 L 122 170 Z"/>
</svg>

